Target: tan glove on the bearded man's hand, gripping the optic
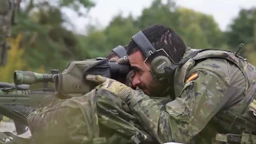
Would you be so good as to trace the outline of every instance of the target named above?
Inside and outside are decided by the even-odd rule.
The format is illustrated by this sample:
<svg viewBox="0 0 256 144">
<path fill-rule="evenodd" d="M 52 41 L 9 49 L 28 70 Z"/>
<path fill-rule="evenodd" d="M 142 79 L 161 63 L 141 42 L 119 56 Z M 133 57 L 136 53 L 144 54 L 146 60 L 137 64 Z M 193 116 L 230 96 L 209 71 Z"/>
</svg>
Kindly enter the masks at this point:
<svg viewBox="0 0 256 144">
<path fill-rule="evenodd" d="M 123 100 L 126 100 L 130 92 L 133 90 L 131 87 L 126 86 L 121 82 L 111 78 L 102 77 L 101 75 L 88 74 L 86 75 L 86 80 L 99 84 L 95 87 L 96 89 L 101 88 L 108 90 Z"/>
</svg>

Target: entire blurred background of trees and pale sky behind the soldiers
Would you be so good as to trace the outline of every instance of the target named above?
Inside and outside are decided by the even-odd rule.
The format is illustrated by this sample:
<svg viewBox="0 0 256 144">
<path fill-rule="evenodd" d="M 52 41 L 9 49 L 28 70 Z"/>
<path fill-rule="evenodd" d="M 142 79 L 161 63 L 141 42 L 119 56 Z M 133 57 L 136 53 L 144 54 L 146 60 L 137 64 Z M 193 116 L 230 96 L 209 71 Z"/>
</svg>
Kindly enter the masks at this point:
<svg viewBox="0 0 256 144">
<path fill-rule="evenodd" d="M 236 51 L 256 65 L 254 0 L 22 0 L 1 82 L 14 70 L 50 73 L 72 60 L 104 57 L 147 26 L 163 24 L 187 46 Z"/>
</svg>

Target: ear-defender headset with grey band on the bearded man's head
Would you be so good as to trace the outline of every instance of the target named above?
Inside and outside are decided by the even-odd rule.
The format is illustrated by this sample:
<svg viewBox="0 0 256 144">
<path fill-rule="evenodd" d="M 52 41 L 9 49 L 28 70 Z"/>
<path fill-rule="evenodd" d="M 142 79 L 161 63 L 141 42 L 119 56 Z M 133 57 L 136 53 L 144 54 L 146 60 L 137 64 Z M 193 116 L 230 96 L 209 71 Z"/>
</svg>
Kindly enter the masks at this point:
<svg viewBox="0 0 256 144">
<path fill-rule="evenodd" d="M 174 60 L 166 53 L 166 50 L 159 49 L 156 50 L 150 41 L 146 38 L 142 31 L 139 31 L 131 38 L 145 55 L 144 65 L 146 66 L 146 61 L 151 60 L 150 66 L 151 70 L 146 66 L 147 70 L 156 78 L 158 81 L 166 79 L 165 68 L 174 65 Z"/>
</svg>

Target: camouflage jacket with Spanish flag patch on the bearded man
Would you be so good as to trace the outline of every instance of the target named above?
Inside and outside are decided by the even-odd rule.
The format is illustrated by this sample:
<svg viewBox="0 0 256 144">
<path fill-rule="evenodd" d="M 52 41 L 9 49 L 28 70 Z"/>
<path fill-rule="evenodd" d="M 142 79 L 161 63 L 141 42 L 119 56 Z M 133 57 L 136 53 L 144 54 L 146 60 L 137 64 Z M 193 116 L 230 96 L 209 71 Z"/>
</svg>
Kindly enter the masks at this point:
<svg viewBox="0 0 256 144">
<path fill-rule="evenodd" d="M 192 51 L 188 48 L 184 58 Z M 255 77 L 255 67 L 243 58 L 206 50 L 175 71 L 174 101 L 162 105 L 142 90 L 133 90 L 123 99 L 160 143 L 214 143 L 216 134 L 256 130 L 256 118 L 247 112 L 255 96 Z"/>
</svg>

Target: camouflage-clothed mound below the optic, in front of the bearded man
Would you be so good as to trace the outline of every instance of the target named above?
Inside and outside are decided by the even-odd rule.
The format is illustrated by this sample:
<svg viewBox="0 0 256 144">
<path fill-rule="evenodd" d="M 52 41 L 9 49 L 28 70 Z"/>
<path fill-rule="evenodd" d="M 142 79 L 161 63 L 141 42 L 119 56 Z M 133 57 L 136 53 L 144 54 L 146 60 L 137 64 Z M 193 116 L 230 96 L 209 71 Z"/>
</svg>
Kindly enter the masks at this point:
<svg viewBox="0 0 256 144">
<path fill-rule="evenodd" d="M 77 106 L 75 102 L 82 105 Z M 83 110 L 79 112 L 78 107 Z M 56 100 L 30 114 L 28 123 L 32 137 L 17 138 L 6 133 L 15 139 L 16 142 L 12 143 L 158 143 L 130 114 L 129 107 L 121 98 L 102 89 L 92 90 L 82 97 Z"/>
</svg>

